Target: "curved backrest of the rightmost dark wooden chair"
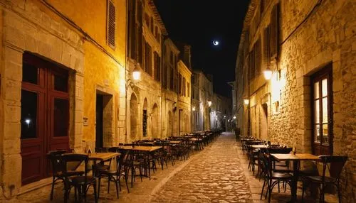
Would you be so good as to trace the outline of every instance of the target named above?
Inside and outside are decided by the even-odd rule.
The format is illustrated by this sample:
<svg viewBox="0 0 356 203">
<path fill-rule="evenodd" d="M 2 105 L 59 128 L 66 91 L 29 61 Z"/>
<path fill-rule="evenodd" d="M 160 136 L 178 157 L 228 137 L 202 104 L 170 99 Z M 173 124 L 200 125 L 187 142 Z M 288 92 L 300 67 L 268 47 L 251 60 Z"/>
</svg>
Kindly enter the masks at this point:
<svg viewBox="0 0 356 203">
<path fill-rule="evenodd" d="M 330 177 L 340 178 L 342 168 L 344 167 L 347 156 L 339 155 L 320 155 L 321 162 L 323 163 L 323 177 L 325 177 L 326 169 L 328 168 Z"/>
</svg>

